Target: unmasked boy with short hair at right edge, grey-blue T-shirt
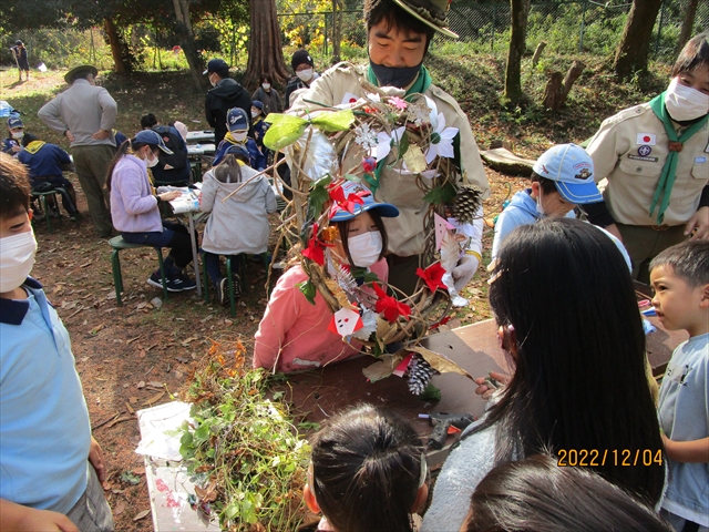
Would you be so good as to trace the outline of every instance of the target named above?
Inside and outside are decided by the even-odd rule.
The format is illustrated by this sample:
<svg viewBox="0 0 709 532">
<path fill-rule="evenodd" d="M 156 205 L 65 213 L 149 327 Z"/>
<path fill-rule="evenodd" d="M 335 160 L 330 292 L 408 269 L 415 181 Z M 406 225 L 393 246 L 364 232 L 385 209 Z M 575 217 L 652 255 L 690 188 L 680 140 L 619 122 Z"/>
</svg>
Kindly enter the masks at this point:
<svg viewBox="0 0 709 532">
<path fill-rule="evenodd" d="M 662 515 L 675 530 L 709 528 L 709 242 L 665 249 L 650 263 L 657 317 L 686 330 L 660 387 L 659 418 L 669 466 Z"/>
</svg>

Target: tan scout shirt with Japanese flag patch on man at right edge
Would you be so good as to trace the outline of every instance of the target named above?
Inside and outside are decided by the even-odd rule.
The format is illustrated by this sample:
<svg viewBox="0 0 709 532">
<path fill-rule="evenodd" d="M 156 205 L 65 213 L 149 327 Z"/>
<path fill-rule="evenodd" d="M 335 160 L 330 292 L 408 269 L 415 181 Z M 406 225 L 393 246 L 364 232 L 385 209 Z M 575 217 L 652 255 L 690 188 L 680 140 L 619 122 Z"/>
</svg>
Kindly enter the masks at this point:
<svg viewBox="0 0 709 532">
<path fill-rule="evenodd" d="M 681 130 L 678 130 L 681 134 Z M 648 103 L 620 111 L 600 124 L 586 149 L 594 161 L 596 182 L 608 178 L 604 197 L 621 224 L 657 225 L 658 205 L 650 204 L 669 153 L 665 125 Z M 685 142 L 677 177 L 665 212 L 665 224 L 681 225 L 697 212 L 701 190 L 709 182 L 707 124 Z"/>
</svg>

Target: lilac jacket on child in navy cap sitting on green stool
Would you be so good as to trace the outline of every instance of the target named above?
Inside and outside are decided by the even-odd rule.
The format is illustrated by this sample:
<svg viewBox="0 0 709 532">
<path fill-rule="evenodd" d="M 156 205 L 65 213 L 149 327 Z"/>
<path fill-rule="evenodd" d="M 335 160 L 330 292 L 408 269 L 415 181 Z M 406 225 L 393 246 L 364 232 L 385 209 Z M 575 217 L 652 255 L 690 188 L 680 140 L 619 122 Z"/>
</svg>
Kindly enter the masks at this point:
<svg viewBox="0 0 709 532">
<path fill-rule="evenodd" d="M 111 177 L 111 217 L 121 233 L 163 232 L 145 161 L 125 155 Z"/>
</svg>

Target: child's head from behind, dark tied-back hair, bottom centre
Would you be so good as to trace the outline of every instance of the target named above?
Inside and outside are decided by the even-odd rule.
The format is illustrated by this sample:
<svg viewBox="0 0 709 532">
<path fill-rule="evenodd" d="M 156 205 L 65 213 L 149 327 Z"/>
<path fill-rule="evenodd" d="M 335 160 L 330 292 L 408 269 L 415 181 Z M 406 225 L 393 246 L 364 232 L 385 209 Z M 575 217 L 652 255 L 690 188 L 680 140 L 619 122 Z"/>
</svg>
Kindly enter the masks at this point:
<svg viewBox="0 0 709 532">
<path fill-rule="evenodd" d="M 429 495 L 425 452 L 400 416 L 372 405 L 341 412 L 315 434 L 304 490 L 331 532 L 412 532 L 412 513 Z"/>
</svg>

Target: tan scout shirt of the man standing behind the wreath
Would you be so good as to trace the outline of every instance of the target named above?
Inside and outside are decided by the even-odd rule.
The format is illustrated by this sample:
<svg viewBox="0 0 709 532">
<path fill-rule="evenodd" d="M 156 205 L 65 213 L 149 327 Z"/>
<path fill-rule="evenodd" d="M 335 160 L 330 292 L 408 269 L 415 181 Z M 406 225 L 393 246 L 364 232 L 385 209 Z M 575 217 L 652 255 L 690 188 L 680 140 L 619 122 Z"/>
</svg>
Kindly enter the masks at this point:
<svg viewBox="0 0 709 532">
<path fill-rule="evenodd" d="M 366 91 L 362 90 L 360 81 L 367 81 L 363 68 L 349 63 L 336 64 L 316 80 L 307 92 L 298 94 L 288 112 L 294 114 L 304 110 L 316 111 L 319 109 L 318 105 L 305 100 L 325 105 L 339 105 L 348 103 L 343 101 L 347 93 L 356 98 L 363 96 Z M 435 102 L 439 113 L 443 113 L 445 116 L 445 126 L 459 129 L 464 180 L 481 188 L 484 192 L 483 197 L 487 197 L 490 186 L 467 117 L 458 102 L 438 86 L 432 84 L 424 94 Z M 354 152 L 356 150 L 350 146 L 350 154 L 347 155 L 347 161 L 343 164 L 346 168 L 352 167 L 358 158 L 361 160 L 364 156 L 361 150 L 358 153 Z M 390 154 L 386 165 L 393 161 L 393 154 Z M 391 203 L 399 208 L 398 217 L 383 218 L 383 221 L 389 237 L 389 250 L 402 257 L 423 252 L 423 218 L 429 204 L 423 201 L 424 193 L 417 186 L 415 180 L 417 174 L 411 172 L 398 172 L 384 167 L 379 180 L 380 186 L 374 193 L 374 198 L 378 202 Z"/>
</svg>

